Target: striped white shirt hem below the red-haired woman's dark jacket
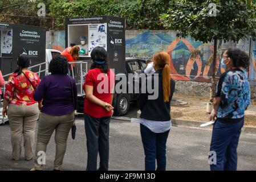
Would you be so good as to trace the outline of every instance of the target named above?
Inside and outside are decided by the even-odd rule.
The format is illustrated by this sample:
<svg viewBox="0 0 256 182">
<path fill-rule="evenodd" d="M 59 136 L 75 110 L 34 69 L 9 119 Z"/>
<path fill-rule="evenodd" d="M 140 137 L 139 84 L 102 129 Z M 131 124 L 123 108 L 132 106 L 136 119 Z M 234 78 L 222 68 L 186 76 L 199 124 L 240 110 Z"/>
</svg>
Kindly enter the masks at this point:
<svg viewBox="0 0 256 182">
<path fill-rule="evenodd" d="M 153 133 L 164 133 L 172 127 L 172 119 L 170 121 L 151 121 L 140 118 L 140 123 L 151 130 Z"/>
</svg>

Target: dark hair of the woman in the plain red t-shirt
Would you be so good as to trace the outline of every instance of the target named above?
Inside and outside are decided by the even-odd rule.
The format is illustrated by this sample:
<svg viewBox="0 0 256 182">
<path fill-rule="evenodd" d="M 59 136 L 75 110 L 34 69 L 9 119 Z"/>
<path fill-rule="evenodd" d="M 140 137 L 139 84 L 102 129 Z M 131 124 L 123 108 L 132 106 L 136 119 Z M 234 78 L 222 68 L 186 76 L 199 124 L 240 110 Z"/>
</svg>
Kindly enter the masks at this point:
<svg viewBox="0 0 256 182">
<path fill-rule="evenodd" d="M 95 47 L 91 52 L 92 65 L 91 69 L 100 68 L 103 73 L 107 73 L 109 70 L 108 67 L 108 54 L 103 47 Z M 99 62 L 103 64 L 99 64 Z"/>
</svg>

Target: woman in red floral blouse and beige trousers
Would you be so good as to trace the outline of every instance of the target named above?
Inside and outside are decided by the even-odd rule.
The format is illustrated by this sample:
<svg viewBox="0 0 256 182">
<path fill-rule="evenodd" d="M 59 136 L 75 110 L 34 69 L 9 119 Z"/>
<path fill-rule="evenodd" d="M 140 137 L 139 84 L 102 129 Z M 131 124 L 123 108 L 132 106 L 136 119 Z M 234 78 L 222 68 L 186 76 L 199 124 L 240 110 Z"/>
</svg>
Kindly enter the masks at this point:
<svg viewBox="0 0 256 182">
<path fill-rule="evenodd" d="M 33 94 L 40 78 L 36 73 L 29 71 L 29 56 L 19 55 L 17 64 L 19 68 L 10 75 L 6 85 L 2 114 L 5 117 L 7 113 L 9 118 L 13 159 L 21 158 L 23 134 L 25 159 L 30 160 L 34 153 L 35 128 L 39 117 L 38 103 Z"/>
</svg>

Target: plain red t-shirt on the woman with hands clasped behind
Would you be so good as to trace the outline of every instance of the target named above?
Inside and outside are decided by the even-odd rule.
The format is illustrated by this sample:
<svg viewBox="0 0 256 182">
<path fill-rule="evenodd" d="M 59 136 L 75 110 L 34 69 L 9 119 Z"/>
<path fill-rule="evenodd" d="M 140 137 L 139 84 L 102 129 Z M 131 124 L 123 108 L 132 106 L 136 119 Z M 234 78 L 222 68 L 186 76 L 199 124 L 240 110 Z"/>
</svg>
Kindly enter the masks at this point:
<svg viewBox="0 0 256 182">
<path fill-rule="evenodd" d="M 99 68 L 91 69 L 86 74 L 83 89 L 86 88 L 86 85 L 94 86 L 93 94 L 99 100 L 112 104 L 111 92 L 115 85 L 115 73 L 111 69 L 109 69 L 107 75 Z M 105 110 L 104 107 L 94 104 L 87 98 L 84 99 L 84 113 L 94 118 L 109 117 L 112 114 L 111 111 Z"/>
</svg>

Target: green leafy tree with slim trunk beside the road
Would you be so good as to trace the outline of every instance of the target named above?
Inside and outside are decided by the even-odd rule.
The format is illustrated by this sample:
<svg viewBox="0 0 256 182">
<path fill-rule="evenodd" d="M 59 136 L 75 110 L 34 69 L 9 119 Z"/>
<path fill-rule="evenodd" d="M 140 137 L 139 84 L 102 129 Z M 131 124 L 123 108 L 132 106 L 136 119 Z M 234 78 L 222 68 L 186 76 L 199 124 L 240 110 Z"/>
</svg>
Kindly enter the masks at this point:
<svg viewBox="0 0 256 182">
<path fill-rule="evenodd" d="M 179 37 L 185 38 L 190 35 L 204 43 L 214 42 L 210 93 L 210 102 L 213 102 L 217 84 L 217 40 L 238 42 L 250 36 L 255 40 L 255 3 L 242 0 L 172 0 L 168 11 L 161 14 L 160 19 L 165 28 L 175 30 Z"/>
</svg>

